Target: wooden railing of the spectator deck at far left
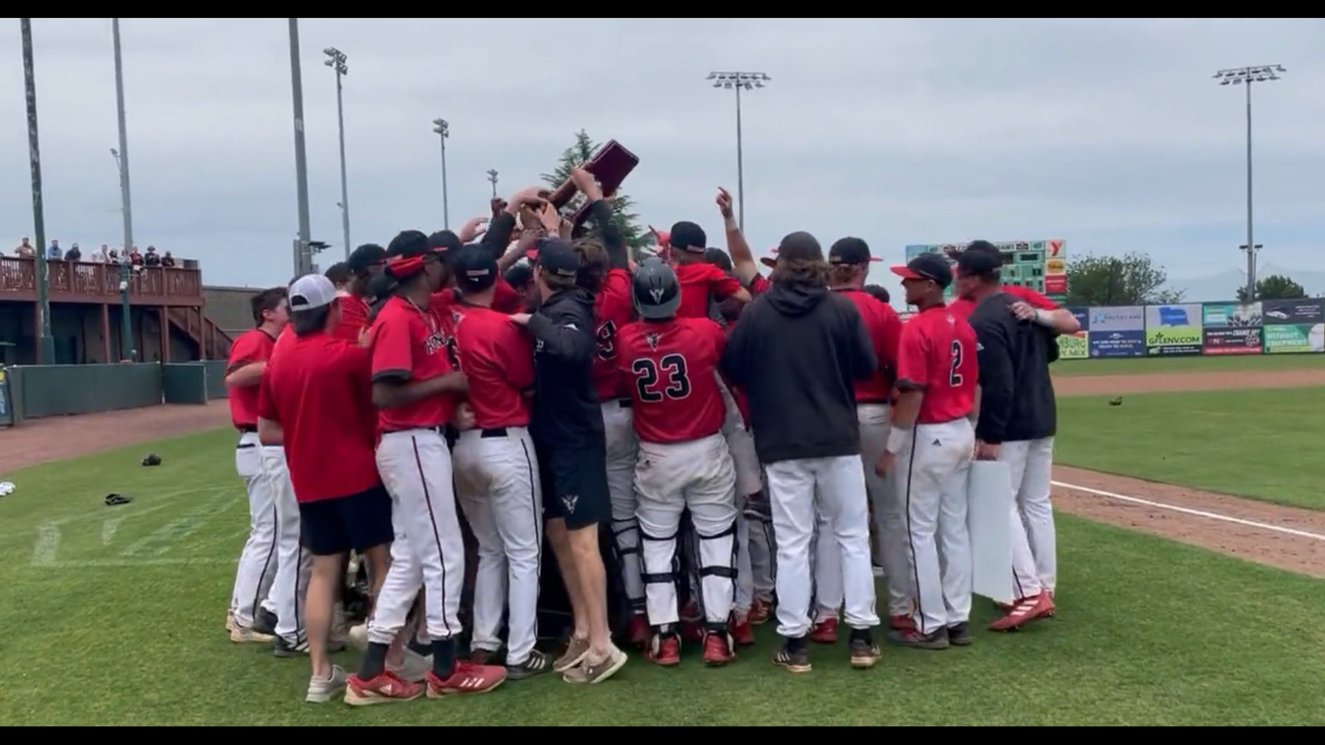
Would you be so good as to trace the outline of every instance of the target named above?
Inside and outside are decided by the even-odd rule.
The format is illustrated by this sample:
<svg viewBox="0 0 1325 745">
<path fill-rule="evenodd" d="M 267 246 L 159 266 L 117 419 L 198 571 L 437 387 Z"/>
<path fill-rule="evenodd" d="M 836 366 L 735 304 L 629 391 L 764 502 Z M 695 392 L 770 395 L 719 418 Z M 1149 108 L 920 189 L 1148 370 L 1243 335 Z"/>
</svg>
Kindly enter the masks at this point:
<svg viewBox="0 0 1325 745">
<path fill-rule="evenodd" d="M 50 300 L 57 302 L 111 302 L 119 300 L 119 265 L 90 261 L 48 261 Z M 33 258 L 0 257 L 0 300 L 32 300 L 37 294 L 37 262 Z M 130 272 L 129 297 L 162 305 L 201 304 L 199 269 L 135 266 Z"/>
</svg>

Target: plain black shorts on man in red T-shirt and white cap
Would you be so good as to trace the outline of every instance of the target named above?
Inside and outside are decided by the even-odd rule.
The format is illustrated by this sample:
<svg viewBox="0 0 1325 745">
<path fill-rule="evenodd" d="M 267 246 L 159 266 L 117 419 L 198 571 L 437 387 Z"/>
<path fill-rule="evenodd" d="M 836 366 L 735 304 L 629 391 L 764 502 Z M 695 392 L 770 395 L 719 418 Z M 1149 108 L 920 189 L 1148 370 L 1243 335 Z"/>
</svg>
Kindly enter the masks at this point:
<svg viewBox="0 0 1325 745">
<path fill-rule="evenodd" d="M 363 553 L 394 538 L 391 496 L 382 484 L 348 497 L 299 502 L 299 545 L 315 557 Z"/>
</svg>

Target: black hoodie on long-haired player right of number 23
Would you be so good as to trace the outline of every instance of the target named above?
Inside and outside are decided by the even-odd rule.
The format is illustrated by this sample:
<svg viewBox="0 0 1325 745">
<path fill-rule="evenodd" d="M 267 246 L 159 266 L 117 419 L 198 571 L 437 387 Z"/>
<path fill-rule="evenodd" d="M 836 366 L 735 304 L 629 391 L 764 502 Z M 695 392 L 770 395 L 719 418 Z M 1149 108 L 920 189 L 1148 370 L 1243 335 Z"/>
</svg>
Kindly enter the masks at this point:
<svg viewBox="0 0 1325 745">
<path fill-rule="evenodd" d="M 762 463 L 860 455 L 855 380 L 878 366 L 849 298 L 774 282 L 741 313 L 722 372 L 750 402 Z"/>
</svg>

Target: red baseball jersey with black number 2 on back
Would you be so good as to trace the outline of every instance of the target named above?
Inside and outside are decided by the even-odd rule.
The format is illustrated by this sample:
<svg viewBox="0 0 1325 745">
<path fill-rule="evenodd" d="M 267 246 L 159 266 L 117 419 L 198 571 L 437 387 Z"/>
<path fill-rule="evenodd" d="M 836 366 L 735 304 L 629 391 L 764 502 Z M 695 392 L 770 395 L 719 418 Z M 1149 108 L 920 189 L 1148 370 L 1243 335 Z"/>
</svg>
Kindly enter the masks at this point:
<svg viewBox="0 0 1325 745">
<path fill-rule="evenodd" d="M 902 325 L 897 387 L 925 391 L 917 424 L 969 415 L 975 403 L 975 331 L 965 318 L 935 305 Z"/>
</svg>

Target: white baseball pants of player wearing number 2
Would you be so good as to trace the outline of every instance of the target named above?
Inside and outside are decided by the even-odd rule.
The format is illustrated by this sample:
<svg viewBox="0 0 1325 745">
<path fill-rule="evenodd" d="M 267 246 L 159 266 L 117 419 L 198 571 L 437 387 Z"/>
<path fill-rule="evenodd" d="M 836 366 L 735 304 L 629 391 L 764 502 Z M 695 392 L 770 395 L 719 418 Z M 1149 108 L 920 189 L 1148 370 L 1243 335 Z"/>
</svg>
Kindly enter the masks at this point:
<svg viewBox="0 0 1325 745">
<path fill-rule="evenodd" d="M 916 582 L 916 628 L 933 634 L 971 616 L 971 534 L 966 480 L 975 449 L 970 420 L 917 424 L 894 459 Z"/>
</svg>

